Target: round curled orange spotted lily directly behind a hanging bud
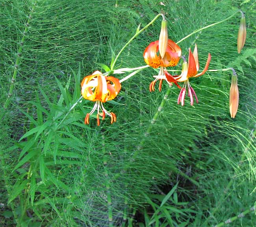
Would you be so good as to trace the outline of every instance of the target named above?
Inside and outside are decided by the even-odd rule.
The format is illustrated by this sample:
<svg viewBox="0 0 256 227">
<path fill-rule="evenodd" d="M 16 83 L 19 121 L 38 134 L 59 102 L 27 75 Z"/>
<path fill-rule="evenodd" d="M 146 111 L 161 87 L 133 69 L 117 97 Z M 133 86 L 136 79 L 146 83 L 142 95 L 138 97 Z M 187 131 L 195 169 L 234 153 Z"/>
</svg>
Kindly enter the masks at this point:
<svg viewBox="0 0 256 227">
<path fill-rule="evenodd" d="M 161 37 L 161 36 L 160 36 Z M 163 53 L 161 53 L 163 55 Z M 161 57 L 159 53 L 159 41 L 151 42 L 144 51 L 143 57 L 145 63 L 153 68 L 158 68 L 160 66 L 160 71 L 158 76 L 149 85 L 150 92 L 154 91 L 154 86 L 156 81 L 160 80 L 159 90 L 161 91 L 162 80 L 164 79 L 170 85 L 174 82 L 177 86 L 177 81 L 169 74 L 165 67 L 176 66 L 180 60 L 181 49 L 180 47 L 171 39 L 168 39 L 167 48 L 164 57 Z M 179 86 L 178 86 L 179 87 Z"/>
</svg>

